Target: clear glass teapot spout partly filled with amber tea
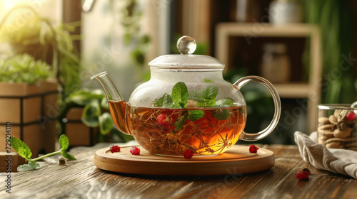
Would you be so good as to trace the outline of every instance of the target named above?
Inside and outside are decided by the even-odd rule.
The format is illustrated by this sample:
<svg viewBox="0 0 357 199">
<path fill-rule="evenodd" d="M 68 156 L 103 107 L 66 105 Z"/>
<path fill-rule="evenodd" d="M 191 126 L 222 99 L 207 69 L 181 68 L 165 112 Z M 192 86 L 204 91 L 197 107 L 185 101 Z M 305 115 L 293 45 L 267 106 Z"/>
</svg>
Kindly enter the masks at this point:
<svg viewBox="0 0 357 199">
<path fill-rule="evenodd" d="M 111 118 L 120 131 L 124 134 L 131 135 L 129 128 L 129 117 L 127 117 L 128 104 L 124 101 L 124 98 L 120 95 L 116 89 L 111 77 L 106 71 L 99 72 L 91 77 L 91 80 L 96 79 L 101 83 L 101 86 L 106 93 L 106 99 L 109 103 L 109 110 L 111 112 Z"/>
</svg>

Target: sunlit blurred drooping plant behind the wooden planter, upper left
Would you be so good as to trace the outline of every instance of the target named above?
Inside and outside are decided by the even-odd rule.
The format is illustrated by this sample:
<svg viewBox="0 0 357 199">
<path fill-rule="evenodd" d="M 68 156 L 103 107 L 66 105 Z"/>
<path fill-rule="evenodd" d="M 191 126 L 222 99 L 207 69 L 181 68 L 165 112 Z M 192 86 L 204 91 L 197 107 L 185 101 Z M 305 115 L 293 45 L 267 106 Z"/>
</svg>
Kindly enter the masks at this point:
<svg viewBox="0 0 357 199">
<path fill-rule="evenodd" d="M 21 11 L 26 16 L 21 16 Z M 78 90 L 81 83 L 81 60 L 73 45 L 80 36 L 69 34 L 77 24 L 54 23 L 39 16 L 31 6 L 16 6 L 0 22 L 0 42 L 11 46 L 11 54 L 27 53 L 52 65 L 64 99 Z"/>
</svg>

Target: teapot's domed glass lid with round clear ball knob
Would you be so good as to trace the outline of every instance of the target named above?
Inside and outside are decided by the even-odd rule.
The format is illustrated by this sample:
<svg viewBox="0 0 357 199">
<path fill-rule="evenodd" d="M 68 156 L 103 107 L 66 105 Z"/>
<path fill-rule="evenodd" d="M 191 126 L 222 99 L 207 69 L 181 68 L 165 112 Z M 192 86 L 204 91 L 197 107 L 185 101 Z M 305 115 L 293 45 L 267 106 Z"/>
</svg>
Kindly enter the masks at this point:
<svg viewBox="0 0 357 199">
<path fill-rule="evenodd" d="M 196 50 L 196 41 L 189 36 L 182 36 L 177 41 L 181 55 L 162 55 L 149 63 L 150 68 L 166 69 L 222 69 L 224 64 L 208 55 L 192 55 Z"/>
</svg>

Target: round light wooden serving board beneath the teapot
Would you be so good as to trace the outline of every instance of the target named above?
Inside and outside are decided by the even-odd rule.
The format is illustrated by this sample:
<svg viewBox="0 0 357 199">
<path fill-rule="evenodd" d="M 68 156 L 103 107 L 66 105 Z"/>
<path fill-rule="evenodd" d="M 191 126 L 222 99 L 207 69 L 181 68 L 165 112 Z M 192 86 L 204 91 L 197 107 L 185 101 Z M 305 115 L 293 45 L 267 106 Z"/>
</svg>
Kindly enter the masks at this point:
<svg viewBox="0 0 357 199">
<path fill-rule="evenodd" d="M 218 156 L 157 156 L 141 146 L 139 156 L 130 154 L 132 146 L 121 147 L 120 152 L 111 153 L 109 147 L 96 151 L 94 165 L 106 171 L 119 173 L 162 175 L 162 176 L 210 176 L 236 173 L 251 173 L 267 170 L 274 166 L 273 151 L 258 149 L 249 153 L 249 146 L 234 145 Z"/>
</svg>

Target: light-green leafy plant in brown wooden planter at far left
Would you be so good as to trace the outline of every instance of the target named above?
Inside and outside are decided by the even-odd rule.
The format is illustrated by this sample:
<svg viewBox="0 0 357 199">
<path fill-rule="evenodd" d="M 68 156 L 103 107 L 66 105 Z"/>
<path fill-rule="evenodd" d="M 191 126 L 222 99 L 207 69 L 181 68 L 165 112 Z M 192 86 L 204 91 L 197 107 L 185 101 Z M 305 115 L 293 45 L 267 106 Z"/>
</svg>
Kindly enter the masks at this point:
<svg viewBox="0 0 357 199">
<path fill-rule="evenodd" d="M 0 124 L 11 122 L 11 136 L 28 143 L 32 156 L 54 151 L 58 91 L 51 77 L 51 67 L 31 55 L 0 60 Z"/>
</svg>

